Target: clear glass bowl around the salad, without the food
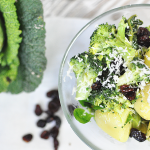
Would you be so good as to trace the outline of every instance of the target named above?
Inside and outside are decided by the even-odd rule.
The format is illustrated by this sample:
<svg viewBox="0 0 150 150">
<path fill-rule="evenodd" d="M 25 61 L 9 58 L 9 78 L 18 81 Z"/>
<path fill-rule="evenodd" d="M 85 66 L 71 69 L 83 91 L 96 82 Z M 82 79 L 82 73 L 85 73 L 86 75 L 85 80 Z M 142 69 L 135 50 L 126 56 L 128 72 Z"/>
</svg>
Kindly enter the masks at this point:
<svg viewBox="0 0 150 150">
<path fill-rule="evenodd" d="M 75 93 L 73 92 L 73 88 L 76 86 L 76 78 L 74 73 L 69 71 L 70 58 L 78 53 L 88 51 L 90 36 L 98 24 L 108 22 L 118 25 L 122 16 L 129 18 L 134 14 L 137 14 L 137 18 L 144 22 L 142 26 L 150 25 L 149 4 L 127 5 L 105 12 L 86 24 L 76 34 L 61 63 L 58 87 L 63 112 L 77 136 L 93 150 L 141 150 L 150 148 L 150 142 L 148 141 L 140 143 L 133 138 L 129 138 L 127 142 L 121 143 L 115 140 L 99 128 L 93 118 L 91 122 L 81 124 L 75 120 L 68 109 L 68 105 L 80 106 L 78 101 L 75 100 Z"/>
</svg>

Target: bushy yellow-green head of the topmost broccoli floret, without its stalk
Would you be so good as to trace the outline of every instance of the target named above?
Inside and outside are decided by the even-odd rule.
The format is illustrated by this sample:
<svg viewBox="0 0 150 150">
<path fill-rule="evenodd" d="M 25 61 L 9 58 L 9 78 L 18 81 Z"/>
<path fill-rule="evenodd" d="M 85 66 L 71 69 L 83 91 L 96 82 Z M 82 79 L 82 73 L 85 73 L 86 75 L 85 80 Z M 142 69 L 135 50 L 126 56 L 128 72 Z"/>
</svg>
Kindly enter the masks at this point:
<svg viewBox="0 0 150 150">
<path fill-rule="evenodd" d="M 110 47 L 107 41 L 113 39 L 115 34 L 115 25 L 109 25 L 108 23 L 99 25 L 90 37 L 90 53 L 95 54 L 101 52 L 104 48 Z"/>
</svg>

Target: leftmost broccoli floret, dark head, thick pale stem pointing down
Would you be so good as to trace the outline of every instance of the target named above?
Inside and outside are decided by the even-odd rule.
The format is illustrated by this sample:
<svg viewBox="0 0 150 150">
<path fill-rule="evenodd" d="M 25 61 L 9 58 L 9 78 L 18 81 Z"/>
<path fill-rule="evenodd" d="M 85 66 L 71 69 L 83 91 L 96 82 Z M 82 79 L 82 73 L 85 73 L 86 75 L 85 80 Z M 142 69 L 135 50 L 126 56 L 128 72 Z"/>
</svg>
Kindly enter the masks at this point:
<svg viewBox="0 0 150 150">
<path fill-rule="evenodd" d="M 70 60 L 70 67 L 77 78 L 76 99 L 85 100 L 91 92 L 91 86 L 101 73 L 103 60 L 89 52 L 76 55 Z"/>
</svg>

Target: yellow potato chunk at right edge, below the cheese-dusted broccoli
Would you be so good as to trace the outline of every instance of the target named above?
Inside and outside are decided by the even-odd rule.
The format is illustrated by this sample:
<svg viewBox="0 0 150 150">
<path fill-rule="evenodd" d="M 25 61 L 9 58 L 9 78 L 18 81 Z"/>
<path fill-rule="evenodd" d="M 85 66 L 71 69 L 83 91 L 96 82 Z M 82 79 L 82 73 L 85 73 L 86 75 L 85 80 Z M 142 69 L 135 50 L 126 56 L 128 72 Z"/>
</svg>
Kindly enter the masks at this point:
<svg viewBox="0 0 150 150">
<path fill-rule="evenodd" d="M 150 120 L 150 83 L 141 90 L 141 98 L 138 98 L 134 103 L 134 109 L 144 119 Z"/>
</svg>

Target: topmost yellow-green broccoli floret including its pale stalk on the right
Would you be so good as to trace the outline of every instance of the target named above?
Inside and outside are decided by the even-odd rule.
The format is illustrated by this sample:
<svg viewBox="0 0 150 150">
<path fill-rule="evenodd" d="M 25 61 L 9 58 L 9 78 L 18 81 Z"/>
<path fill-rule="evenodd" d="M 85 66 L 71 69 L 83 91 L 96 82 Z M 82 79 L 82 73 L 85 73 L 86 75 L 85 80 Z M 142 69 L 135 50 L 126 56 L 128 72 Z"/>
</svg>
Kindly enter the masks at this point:
<svg viewBox="0 0 150 150">
<path fill-rule="evenodd" d="M 125 36 L 127 27 L 128 23 L 125 17 L 122 17 L 117 30 L 114 25 L 108 25 L 108 23 L 99 25 L 98 29 L 91 36 L 90 53 L 107 55 L 113 53 L 114 49 L 117 49 L 128 66 L 130 61 L 138 55 L 138 52 Z"/>
</svg>

